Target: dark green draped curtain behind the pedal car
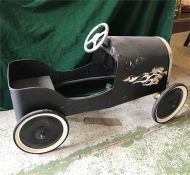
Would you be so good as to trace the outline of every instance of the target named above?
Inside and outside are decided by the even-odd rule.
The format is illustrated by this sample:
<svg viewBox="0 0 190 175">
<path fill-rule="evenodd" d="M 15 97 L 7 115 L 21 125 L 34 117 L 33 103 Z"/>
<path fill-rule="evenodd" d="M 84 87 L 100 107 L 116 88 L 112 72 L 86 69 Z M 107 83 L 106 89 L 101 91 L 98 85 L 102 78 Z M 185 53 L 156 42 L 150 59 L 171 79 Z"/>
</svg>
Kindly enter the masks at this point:
<svg viewBox="0 0 190 175">
<path fill-rule="evenodd" d="M 10 61 L 38 59 L 56 70 L 88 60 L 83 42 L 108 22 L 109 35 L 171 36 L 175 0 L 1 0 L 0 109 L 11 109 L 6 71 Z"/>
</svg>

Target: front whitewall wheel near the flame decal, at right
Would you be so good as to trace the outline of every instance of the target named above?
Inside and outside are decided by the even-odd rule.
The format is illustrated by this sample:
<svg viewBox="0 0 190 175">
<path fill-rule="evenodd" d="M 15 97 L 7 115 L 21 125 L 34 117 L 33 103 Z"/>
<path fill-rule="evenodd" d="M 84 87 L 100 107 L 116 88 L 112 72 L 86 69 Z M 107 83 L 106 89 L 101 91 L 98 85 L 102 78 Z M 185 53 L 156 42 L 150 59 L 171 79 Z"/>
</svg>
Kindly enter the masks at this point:
<svg viewBox="0 0 190 175">
<path fill-rule="evenodd" d="M 176 83 L 165 89 L 152 108 L 152 117 L 158 123 L 172 119 L 183 107 L 188 95 L 184 84 Z"/>
</svg>

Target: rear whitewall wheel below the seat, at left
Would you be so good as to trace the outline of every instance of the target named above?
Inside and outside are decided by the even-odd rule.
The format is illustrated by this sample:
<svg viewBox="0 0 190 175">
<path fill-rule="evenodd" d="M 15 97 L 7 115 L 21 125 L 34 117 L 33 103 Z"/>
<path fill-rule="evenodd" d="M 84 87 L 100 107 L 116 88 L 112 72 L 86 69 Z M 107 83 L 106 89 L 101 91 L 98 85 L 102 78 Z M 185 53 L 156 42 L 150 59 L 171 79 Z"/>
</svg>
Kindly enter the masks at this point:
<svg viewBox="0 0 190 175">
<path fill-rule="evenodd" d="M 13 139 L 21 150 L 41 154 L 59 147 L 68 133 L 69 125 L 63 115 L 52 110 L 38 110 L 21 118 Z"/>
</svg>

